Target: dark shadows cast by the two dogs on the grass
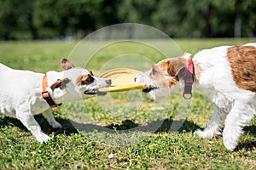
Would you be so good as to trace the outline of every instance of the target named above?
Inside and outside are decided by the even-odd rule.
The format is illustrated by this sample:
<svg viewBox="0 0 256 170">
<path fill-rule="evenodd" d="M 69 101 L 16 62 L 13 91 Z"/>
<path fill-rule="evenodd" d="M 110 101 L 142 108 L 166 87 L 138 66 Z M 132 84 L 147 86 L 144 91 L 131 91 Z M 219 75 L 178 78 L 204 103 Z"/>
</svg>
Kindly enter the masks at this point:
<svg viewBox="0 0 256 170">
<path fill-rule="evenodd" d="M 195 132 L 197 128 L 199 128 L 198 125 L 196 125 L 194 122 L 189 122 L 187 120 L 185 121 L 173 121 L 171 119 L 165 119 L 165 120 L 159 120 L 154 122 L 149 122 L 146 125 L 139 125 L 131 120 L 125 120 L 120 125 L 114 125 L 110 124 L 108 126 L 98 126 L 95 124 L 82 124 L 78 122 L 73 122 L 68 119 L 62 119 L 62 118 L 56 118 L 57 122 L 60 122 L 62 125 L 61 129 L 54 129 L 49 126 L 49 123 L 44 119 L 44 116 L 38 115 L 35 116 L 35 119 L 37 120 L 38 124 L 44 131 L 44 133 L 52 133 L 55 132 L 55 136 L 58 134 L 65 133 L 67 136 L 71 133 L 78 133 L 79 131 L 84 132 L 93 132 L 97 130 L 97 132 L 107 132 L 107 133 L 127 133 L 131 131 L 138 131 L 138 132 L 148 132 L 148 133 L 172 133 L 172 132 L 178 132 L 178 133 L 189 133 L 189 132 Z M 15 126 L 20 127 L 20 129 L 28 132 L 26 127 L 23 126 L 23 124 L 12 117 L 4 116 L 0 119 L 0 127 L 7 127 L 7 126 Z M 173 126 L 174 125 L 174 126 Z M 175 127 L 177 126 L 177 127 Z M 251 125 L 244 127 L 244 133 L 252 133 L 253 135 L 256 135 L 256 126 Z M 238 144 L 236 150 L 252 150 L 256 146 L 256 140 L 246 140 L 243 143 Z"/>
</svg>

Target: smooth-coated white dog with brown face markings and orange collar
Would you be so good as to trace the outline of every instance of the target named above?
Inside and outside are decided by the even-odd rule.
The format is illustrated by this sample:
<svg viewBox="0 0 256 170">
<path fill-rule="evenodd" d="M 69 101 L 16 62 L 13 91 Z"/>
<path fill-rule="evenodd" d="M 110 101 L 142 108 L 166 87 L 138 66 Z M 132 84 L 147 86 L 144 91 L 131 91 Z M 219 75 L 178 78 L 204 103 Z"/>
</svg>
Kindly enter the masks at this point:
<svg viewBox="0 0 256 170">
<path fill-rule="evenodd" d="M 42 132 L 34 115 L 43 113 L 49 125 L 61 128 L 52 115 L 52 107 L 102 95 L 97 89 L 111 85 L 110 79 L 94 77 L 91 71 L 75 68 L 68 59 L 61 59 L 61 65 L 64 71 L 42 74 L 0 64 L 0 112 L 20 120 L 41 143 L 50 138 Z"/>
</svg>

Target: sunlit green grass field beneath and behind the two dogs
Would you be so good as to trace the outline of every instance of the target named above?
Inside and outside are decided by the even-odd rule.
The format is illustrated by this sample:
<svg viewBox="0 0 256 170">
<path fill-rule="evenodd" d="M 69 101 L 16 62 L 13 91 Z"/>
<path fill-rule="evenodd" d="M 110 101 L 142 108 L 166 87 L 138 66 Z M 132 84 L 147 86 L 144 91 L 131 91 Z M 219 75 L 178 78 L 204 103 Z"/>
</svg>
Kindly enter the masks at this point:
<svg viewBox="0 0 256 170">
<path fill-rule="evenodd" d="M 183 52 L 195 54 L 202 48 L 256 42 L 255 39 L 177 39 Z M 76 42 L 0 42 L 0 62 L 15 69 L 46 72 L 61 71 L 60 60 L 68 57 Z M 127 47 L 131 48 L 131 47 Z M 168 48 L 168 47 L 166 47 Z M 91 67 L 111 59 L 113 51 L 98 54 Z M 152 52 L 153 53 L 153 52 Z M 149 51 L 139 54 L 150 55 Z M 155 54 L 152 54 L 155 55 Z M 2 82 L 3 83 L 3 82 Z M 140 93 L 137 93 L 140 95 Z M 179 122 L 179 95 L 170 103 L 155 104 L 142 99 L 139 109 L 127 107 L 126 96 L 111 94 L 116 107 L 102 109 L 97 98 L 72 102 L 54 110 L 63 129 L 52 129 L 43 116 L 35 116 L 44 133 L 52 140 L 40 144 L 16 119 L 0 115 L 1 169 L 255 169 L 256 119 L 245 127 L 237 149 L 226 150 L 222 137 L 199 139 L 197 128 L 206 127 L 213 106 L 201 94 L 195 94 L 183 126 L 170 132 Z M 126 99 L 126 100 L 125 100 Z M 129 99 L 128 99 L 129 100 Z M 132 100 L 132 99 L 130 99 Z M 129 103 L 130 101 L 128 101 Z M 125 103 L 125 104 L 126 104 Z M 136 103 L 136 102 L 135 102 Z M 74 117 L 78 116 L 78 117 Z M 77 130 L 69 120 L 83 119 Z M 136 128 L 137 127 L 137 128 Z M 96 129 L 96 130 L 94 130 Z M 130 130 L 129 129 L 136 129 Z M 125 131 L 126 130 L 126 131 Z"/>
</svg>

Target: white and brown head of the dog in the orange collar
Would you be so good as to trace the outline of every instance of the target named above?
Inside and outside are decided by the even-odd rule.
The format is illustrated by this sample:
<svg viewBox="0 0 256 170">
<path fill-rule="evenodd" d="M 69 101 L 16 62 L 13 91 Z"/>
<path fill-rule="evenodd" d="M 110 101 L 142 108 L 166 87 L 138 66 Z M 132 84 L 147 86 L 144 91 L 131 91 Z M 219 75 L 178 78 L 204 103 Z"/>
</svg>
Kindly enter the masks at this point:
<svg viewBox="0 0 256 170">
<path fill-rule="evenodd" d="M 64 71 L 63 78 L 56 80 L 50 88 L 54 91 L 60 88 L 67 96 L 65 100 L 86 99 L 94 95 L 103 95 L 99 88 L 108 88 L 111 80 L 95 77 L 91 71 L 74 67 L 68 59 L 61 59 Z"/>
</svg>

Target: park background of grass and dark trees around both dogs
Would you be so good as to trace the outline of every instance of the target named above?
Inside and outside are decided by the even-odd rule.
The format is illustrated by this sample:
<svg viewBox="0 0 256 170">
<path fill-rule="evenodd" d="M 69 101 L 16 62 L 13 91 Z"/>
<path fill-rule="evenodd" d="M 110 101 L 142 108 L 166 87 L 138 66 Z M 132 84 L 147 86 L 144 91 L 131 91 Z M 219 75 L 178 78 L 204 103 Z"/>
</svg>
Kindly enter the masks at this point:
<svg viewBox="0 0 256 170">
<path fill-rule="evenodd" d="M 0 0 L 0 63 L 20 70 L 61 71 L 61 58 L 68 57 L 82 38 L 119 23 L 152 26 L 171 37 L 183 52 L 195 54 L 203 48 L 256 42 L 255 21 L 254 0 Z M 133 46 L 125 48 L 150 55 Z M 98 54 L 96 63 L 112 59 L 117 50 L 106 49 Z M 92 67 L 99 71 L 96 65 Z M 221 136 L 208 140 L 193 134 L 197 128 L 206 127 L 212 116 L 213 105 L 201 94 L 194 95 L 183 126 L 172 133 L 169 128 L 177 121 L 173 117 L 180 105 L 179 95 L 172 94 L 167 113 L 157 107 L 148 109 L 153 101 L 133 111 L 119 104 L 125 100 L 125 93 L 112 95 L 119 107 L 109 112 L 102 110 L 96 98 L 55 109 L 54 116 L 63 129 L 52 129 L 43 116 L 35 116 L 44 133 L 52 138 L 44 144 L 38 143 L 18 120 L 0 115 L 0 168 L 256 168 L 255 118 L 231 152 L 224 148 Z M 116 133 L 77 130 L 70 115 L 78 113 L 93 120 L 96 129 L 104 127 Z M 119 134 L 154 122 L 161 122 L 154 132 L 125 133 L 131 140 Z"/>
</svg>

